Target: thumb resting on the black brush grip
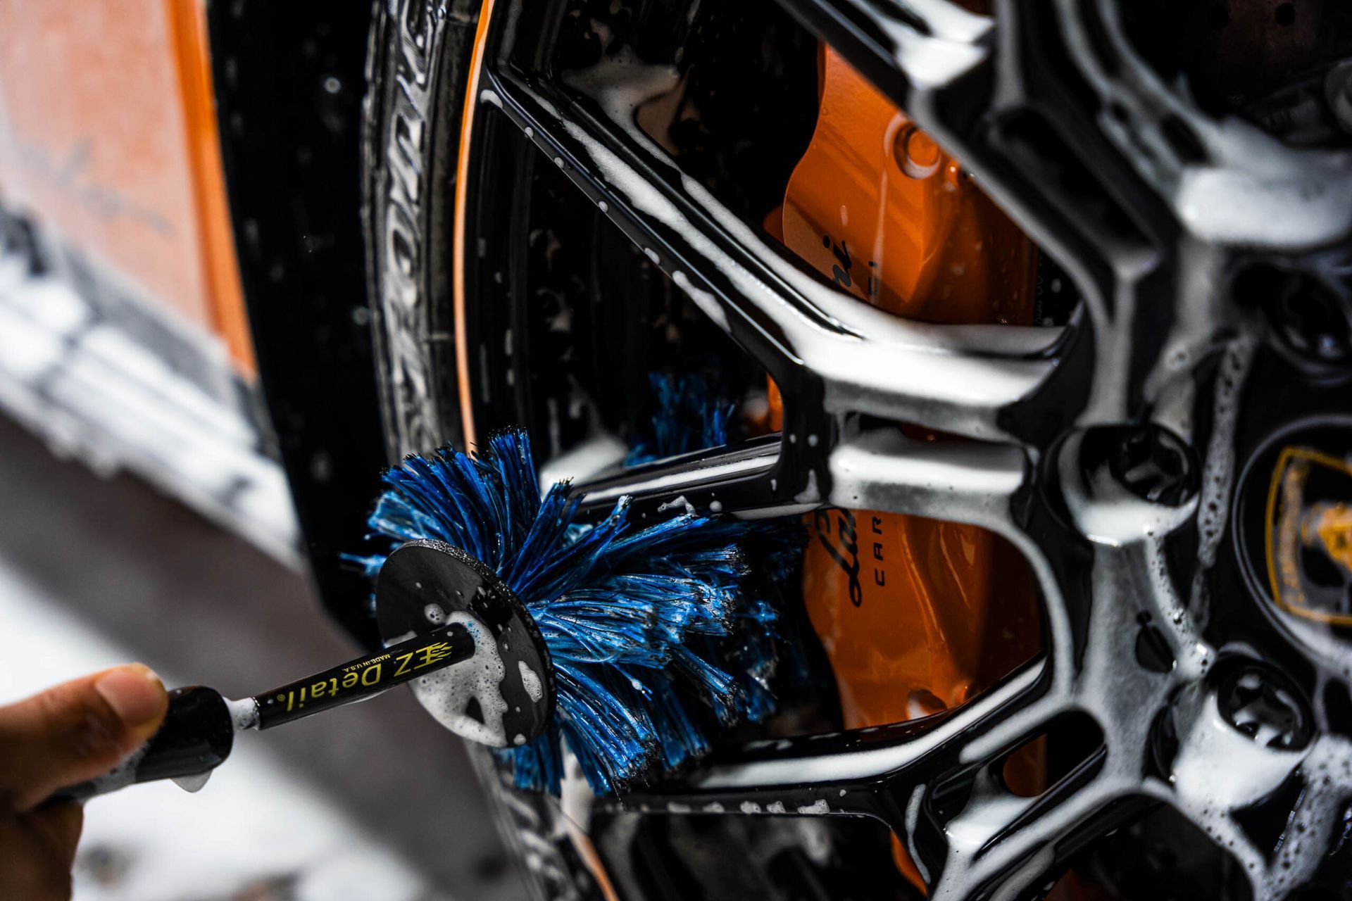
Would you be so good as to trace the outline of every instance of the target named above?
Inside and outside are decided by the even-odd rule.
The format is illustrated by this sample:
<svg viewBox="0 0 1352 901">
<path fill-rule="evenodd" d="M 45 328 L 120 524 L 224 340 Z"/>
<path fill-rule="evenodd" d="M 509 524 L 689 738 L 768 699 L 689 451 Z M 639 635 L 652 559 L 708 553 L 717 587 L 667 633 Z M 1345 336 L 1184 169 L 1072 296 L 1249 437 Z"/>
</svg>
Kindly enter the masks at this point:
<svg viewBox="0 0 1352 901">
<path fill-rule="evenodd" d="M 0 796 L 27 810 L 103 775 L 143 744 L 169 698 L 149 667 L 119 666 L 0 706 Z"/>
</svg>

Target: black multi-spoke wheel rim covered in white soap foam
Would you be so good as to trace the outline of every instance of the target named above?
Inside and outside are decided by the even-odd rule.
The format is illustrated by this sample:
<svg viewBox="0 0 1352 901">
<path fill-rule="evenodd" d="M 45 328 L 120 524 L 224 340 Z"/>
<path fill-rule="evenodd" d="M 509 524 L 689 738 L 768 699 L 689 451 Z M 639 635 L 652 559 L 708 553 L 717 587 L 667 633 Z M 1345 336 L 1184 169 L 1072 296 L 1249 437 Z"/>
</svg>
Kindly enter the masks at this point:
<svg viewBox="0 0 1352 901">
<path fill-rule="evenodd" d="M 1242 458 L 1276 421 L 1252 415 L 1255 394 L 1299 392 L 1336 411 L 1345 373 L 1306 381 L 1232 285 L 1278 257 L 1329 277 L 1328 249 L 1348 238 L 1345 154 L 1209 118 L 1156 77 L 1107 0 L 1009 3 L 998 19 L 945 0 L 781 5 L 1055 255 L 1082 299 L 1069 324 L 921 324 L 838 293 L 612 118 L 625 109 L 615 82 L 569 84 L 552 57 L 558 4 L 526 18 L 498 0 L 458 182 L 466 431 L 522 412 L 511 392 L 499 404 L 476 388 L 488 369 L 475 353 L 519 309 L 487 315 L 465 300 L 502 296 L 495 254 L 519 253 L 495 240 L 511 223 L 483 215 L 510 132 L 784 396 L 781 432 L 594 474 L 576 485 L 588 505 L 630 494 L 644 517 L 676 498 L 754 516 L 867 507 L 980 525 L 1030 563 L 1045 650 L 944 715 L 727 748 L 594 809 L 872 817 L 934 897 L 1036 896 L 1161 806 L 1233 856 L 1253 897 L 1332 878 L 1352 796 L 1345 706 L 1326 700 L 1348 697 L 1345 635 L 1314 634 L 1236 588 L 1229 536 Z M 968 440 L 914 442 L 896 423 Z M 1294 717 L 1303 738 L 1264 743 L 1265 720 L 1226 719 L 1240 685 L 1283 698 L 1253 716 Z M 1011 793 L 1003 762 L 1065 717 L 1102 740 L 1036 797 Z"/>
</svg>

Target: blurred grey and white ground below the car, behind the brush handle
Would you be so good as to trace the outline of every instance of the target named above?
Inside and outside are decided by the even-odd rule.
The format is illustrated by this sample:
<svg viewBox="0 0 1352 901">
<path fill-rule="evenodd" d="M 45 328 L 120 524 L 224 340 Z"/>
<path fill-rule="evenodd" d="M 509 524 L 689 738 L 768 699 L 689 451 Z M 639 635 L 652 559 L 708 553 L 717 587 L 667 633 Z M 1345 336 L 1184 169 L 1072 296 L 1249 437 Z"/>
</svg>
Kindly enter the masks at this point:
<svg viewBox="0 0 1352 901">
<path fill-rule="evenodd" d="M 120 659 L 239 697 L 353 652 L 301 575 L 0 419 L 0 702 Z M 77 877 L 77 901 L 525 897 L 460 742 L 402 689 L 241 736 L 200 794 L 92 801 Z"/>
</svg>

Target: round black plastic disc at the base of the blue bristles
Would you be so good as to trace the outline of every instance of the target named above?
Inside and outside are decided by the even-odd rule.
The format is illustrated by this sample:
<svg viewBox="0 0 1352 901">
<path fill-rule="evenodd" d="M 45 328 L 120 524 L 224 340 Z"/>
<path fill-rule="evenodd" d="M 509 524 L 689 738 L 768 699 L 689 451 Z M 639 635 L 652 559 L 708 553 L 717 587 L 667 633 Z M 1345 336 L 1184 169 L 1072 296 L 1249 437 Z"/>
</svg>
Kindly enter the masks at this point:
<svg viewBox="0 0 1352 901">
<path fill-rule="evenodd" d="M 450 623 L 469 631 L 473 658 L 410 682 L 448 729 L 492 747 L 544 732 L 554 712 L 549 650 L 525 605 L 480 561 L 442 542 L 402 544 L 376 580 L 376 623 L 387 647 Z"/>
</svg>

